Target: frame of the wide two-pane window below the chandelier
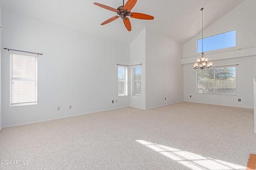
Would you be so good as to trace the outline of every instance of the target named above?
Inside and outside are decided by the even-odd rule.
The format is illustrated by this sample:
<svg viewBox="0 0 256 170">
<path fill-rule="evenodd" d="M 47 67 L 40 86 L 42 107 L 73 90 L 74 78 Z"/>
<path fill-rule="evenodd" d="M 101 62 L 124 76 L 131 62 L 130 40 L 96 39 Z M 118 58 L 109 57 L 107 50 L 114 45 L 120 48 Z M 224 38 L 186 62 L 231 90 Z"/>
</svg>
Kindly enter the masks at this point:
<svg viewBox="0 0 256 170">
<path fill-rule="evenodd" d="M 216 93 L 216 69 L 219 69 L 219 68 L 234 68 L 235 70 L 235 88 L 234 88 L 234 94 L 221 94 L 221 93 Z M 206 70 L 196 70 L 196 94 L 216 94 L 216 95 L 228 95 L 228 96 L 236 96 L 236 65 L 230 65 L 230 66 L 219 66 L 219 67 L 212 67 L 212 68 L 209 68 L 207 70 L 214 70 L 214 83 L 213 83 L 213 86 L 214 86 L 214 92 L 213 93 L 198 93 L 198 71 L 206 71 Z"/>
</svg>

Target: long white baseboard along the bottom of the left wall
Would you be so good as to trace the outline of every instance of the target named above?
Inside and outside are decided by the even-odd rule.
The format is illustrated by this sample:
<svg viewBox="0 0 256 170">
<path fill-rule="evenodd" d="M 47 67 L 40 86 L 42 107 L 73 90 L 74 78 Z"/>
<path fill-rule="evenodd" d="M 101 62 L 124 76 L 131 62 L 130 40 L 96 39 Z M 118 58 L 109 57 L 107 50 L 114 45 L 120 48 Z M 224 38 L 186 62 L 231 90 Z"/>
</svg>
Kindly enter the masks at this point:
<svg viewBox="0 0 256 170">
<path fill-rule="evenodd" d="M 15 125 L 4 126 L 4 127 L 2 127 L 2 128 L 4 129 L 4 128 L 8 128 L 8 127 L 29 125 L 29 124 L 33 124 L 33 123 L 40 123 L 40 122 L 45 122 L 45 121 L 52 121 L 52 120 L 57 120 L 57 119 L 64 119 L 64 118 L 68 118 L 68 117 L 86 115 L 86 114 L 90 114 L 90 113 L 98 113 L 98 112 L 108 111 L 108 110 L 114 110 L 114 109 L 122 109 L 122 108 L 126 108 L 126 107 L 130 107 L 130 106 L 116 107 L 116 108 L 112 108 L 112 109 L 98 110 L 98 111 L 92 111 L 92 112 L 87 112 L 87 113 L 80 113 L 80 114 L 76 114 L 76 115 L 68 115 L 68 116 L 56 117 L 56 118 L 52 118 L 52 119 L 44 119 L 44 120 L 40 120 L 40 121 L 32 121 L 32 122 L 26 122 L 26 123 L 19 123 L 19 124 L 15 124 Z"/>
</svg>

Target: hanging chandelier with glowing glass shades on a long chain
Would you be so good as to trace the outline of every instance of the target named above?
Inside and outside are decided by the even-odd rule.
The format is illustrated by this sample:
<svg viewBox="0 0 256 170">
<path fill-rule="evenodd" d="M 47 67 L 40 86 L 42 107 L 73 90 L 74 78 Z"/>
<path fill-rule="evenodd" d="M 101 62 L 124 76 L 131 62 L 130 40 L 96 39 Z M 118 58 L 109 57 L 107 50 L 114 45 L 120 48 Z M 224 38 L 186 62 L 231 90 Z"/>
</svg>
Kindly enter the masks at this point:
<svg viewBox="0 0 256 170">
<path fill-rule="evenodd" d="M 204 69 L 204 68 L 210 68 L 211 66 L 212 66 L 212 62 L 209 62 L 209 63 L 207 63 L 208 62 L 208 58 L 205 58 L 204 57 L 204 50 L 203 50 L 203 9 L 204 8 L 202 8 L 201 9 L 201 11 L 202 11 L 202 57 L 201 57 L 201 59 L 196 59 L 196 61 L 197 61 L 197 63 L 195 63 L 194 64 L 194 69 L 198 69 L 198 68 L 200 68 L 200 69 Z"/>
</svg>

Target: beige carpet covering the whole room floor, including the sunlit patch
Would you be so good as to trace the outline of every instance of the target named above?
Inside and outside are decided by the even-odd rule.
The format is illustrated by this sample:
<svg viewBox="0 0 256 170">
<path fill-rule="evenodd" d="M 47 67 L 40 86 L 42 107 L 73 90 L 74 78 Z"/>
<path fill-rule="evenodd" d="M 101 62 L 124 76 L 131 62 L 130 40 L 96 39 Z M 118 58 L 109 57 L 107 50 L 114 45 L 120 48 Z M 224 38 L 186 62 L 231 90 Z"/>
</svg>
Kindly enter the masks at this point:
<svg viewBox="0 0 256 170">
<path fill-rule="evenodd" d="M 181 102 L 10 127 L 0 169 L 246 170 L 253 123 L 253 109 Z"/>
</svg>

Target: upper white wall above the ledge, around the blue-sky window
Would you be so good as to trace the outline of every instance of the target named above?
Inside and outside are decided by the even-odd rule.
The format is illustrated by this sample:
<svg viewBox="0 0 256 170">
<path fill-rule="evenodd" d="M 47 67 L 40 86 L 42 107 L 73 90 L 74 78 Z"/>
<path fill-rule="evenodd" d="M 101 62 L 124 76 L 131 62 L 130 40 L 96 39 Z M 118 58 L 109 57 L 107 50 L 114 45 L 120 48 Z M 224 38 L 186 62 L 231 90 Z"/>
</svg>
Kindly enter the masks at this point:
<svg viewBox="0 0 256 170">
<path fill-rule="evenodd" d="M 236 47 L 207 51 L 207 55 L 236 51 L 238 49 L 248 49 L 256 46 L 256 0 L 245 0 L 220 20 L 216 21 L 207 29 L 204 29 L 204 36 L 221 33 L 231 29 L 236 29 Z M 207 9 L 204 9 L 204 13 Z M 200 18 L 199 18 L 200 19 Z M 202 19 L 202 18 L 201 18 Z M 207 20 L 207 18 L 204 18 Z M 198 25 L 202 29 L 202 25 Z M 183 46 L 183 58 L 201 57 L 201 53 L 196 53 L 196 39 L 202 38 L 202 33 L 196 35 Z"/>
</svg>

